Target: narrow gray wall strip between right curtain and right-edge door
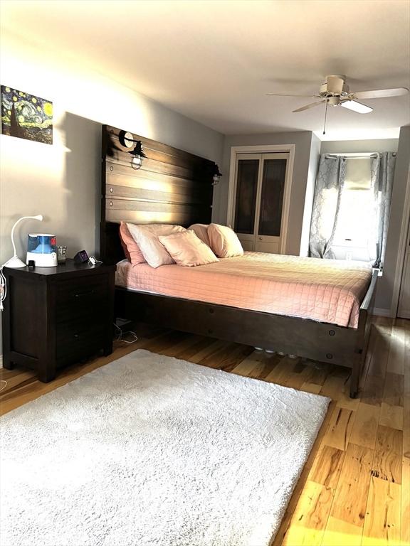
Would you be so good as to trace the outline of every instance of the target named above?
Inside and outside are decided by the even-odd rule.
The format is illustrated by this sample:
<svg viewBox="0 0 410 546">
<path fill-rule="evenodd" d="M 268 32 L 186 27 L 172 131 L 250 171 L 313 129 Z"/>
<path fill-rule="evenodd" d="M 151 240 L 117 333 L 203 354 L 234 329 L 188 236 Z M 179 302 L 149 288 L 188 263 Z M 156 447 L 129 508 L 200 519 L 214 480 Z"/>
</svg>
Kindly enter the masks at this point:
<svg viewBox="0 0 410 546">
<path fill-rule="evenodd" d="M 391 212 L 389 233 L 387 235 L 386 256 L 384 257 L 383 277 L 377 282 L 377 309 L 389 311 L 396 275 L 396 261 L 399 253 L 399 237 L 401 220 L 404 211 L 407 180 L 410 171 L 410 126 L 401 127 L 399 147 L 397 149 L 396 170 L 394 172 L 393 193 L 391 196 Z"/>
</svg>

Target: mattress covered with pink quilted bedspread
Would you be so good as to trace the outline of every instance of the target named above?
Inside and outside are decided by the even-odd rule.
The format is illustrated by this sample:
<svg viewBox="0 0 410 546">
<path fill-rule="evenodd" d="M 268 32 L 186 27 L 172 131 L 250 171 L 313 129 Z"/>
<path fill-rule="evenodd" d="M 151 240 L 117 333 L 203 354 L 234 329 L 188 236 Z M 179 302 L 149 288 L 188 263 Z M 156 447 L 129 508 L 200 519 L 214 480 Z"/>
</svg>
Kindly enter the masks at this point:
<svg viewBox="0 0 410 546">
<path fill-rule="evenodd" d="M 154 269 L 122 260 L 115 282 L 130 290 L 357 328 L 371 277 L 366 262 L 245 252 L 197 267 Z"/>
</svg>

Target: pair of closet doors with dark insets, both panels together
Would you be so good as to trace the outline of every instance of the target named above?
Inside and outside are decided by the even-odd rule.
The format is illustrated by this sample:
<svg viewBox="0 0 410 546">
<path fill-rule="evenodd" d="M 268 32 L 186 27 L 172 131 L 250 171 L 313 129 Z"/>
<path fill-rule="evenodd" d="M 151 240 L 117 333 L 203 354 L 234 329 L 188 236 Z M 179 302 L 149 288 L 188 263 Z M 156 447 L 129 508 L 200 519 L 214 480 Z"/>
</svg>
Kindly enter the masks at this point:
<svg viewBox="0 0 410 546">
<path fill-rule="evenodd" d="M 238 154 L 233 228 L 244 250 L 280 253 L 289 154 Z"/>
</svg>

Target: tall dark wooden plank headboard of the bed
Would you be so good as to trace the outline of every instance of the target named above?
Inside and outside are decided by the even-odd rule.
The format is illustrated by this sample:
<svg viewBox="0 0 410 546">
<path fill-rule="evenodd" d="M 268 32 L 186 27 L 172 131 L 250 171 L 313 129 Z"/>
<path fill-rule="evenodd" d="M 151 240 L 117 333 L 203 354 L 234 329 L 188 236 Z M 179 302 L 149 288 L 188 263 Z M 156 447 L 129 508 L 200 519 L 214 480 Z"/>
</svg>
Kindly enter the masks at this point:
<svg viewBox="0 0 410 546">
<path fill-rule="evenodd" d="M 124 257 L 121 220 L 188 227 L 210 223 L 212 214 L 213 161 L 133 134 L 147 156 L 135 170 L 120 131 L 102 126 L 100 259 L 108 264 Z"/>
</svg>

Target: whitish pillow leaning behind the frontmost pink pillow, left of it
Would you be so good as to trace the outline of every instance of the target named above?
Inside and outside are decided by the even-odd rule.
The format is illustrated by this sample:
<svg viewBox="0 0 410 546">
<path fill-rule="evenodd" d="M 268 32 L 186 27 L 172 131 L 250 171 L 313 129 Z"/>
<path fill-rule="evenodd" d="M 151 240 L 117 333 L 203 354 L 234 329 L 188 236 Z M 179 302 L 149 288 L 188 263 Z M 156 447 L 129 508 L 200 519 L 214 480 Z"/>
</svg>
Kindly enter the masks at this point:
<svg viewBox="0 0 410 546">
<path fill-rule="evenodd" d="M 127 228 L 140 247 L 142 255 L 151 267 L 174 264 L 174 260 L 167 252 L 167 249 L 159 241 L 159 235 L 171 235 L 186 231 L 181 225 L 170 224 L 149 224 L 135 225 L 127 223 Z"/>
</svg>

